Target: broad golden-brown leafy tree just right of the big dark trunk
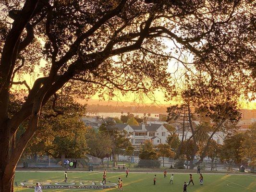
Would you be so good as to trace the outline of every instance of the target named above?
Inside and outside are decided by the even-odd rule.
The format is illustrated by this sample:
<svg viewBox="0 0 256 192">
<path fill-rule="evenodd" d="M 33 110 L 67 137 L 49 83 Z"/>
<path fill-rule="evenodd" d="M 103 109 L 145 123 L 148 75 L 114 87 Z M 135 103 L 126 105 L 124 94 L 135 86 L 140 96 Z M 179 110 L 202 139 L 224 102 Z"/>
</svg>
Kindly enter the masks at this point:
<svg viewBox="0 0 256 192">
<path fill-rule="evenodd" d="M 42 116 L 44 118 L 40 120 L 37 132 L 27 144 L 24 154 L 48 154 L 54 158 L 61 158 L 62 156 L 66 158 L 85 157 L 87 128 L 81 120 L 85 113 L 85 106 L 67 98 L 68 96 L 63 97 L 67 99 L 65 103 L 56 104 L 54 109 L 63 114 L 55 117 L 50 102 L 43 108 Z M 20 127 L 19 132 L 24 132 L 24 129 Z M 21 133 L 18 133 L 18 138 Z"/>
</svg>

